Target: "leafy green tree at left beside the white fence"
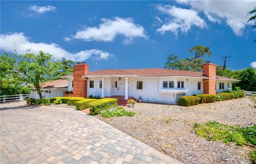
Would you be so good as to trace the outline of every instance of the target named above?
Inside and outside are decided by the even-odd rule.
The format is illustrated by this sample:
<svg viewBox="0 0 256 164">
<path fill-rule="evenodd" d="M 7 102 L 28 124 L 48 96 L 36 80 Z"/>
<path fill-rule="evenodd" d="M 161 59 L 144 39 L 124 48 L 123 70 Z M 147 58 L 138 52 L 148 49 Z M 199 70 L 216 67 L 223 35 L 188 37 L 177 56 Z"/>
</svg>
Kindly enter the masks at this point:
<svg viewBox="0 0 256 164">
<path fill-rule="evenodd" d="M 29 50 L 24 55 L 19 55 L 17 52 L 13 54 L 4 52 L 1 59 L 4 60 L 3 68 L 6 72 L 9 72 L 14 80 L 32 85 L 40 98 L 43 98 L 40 84 L 55 79 L 56 73 L 61 68 L 60 62 L 53 62 L 52 55 L 43 51 L 39 51 L 36 55 Z"/>
</svg>

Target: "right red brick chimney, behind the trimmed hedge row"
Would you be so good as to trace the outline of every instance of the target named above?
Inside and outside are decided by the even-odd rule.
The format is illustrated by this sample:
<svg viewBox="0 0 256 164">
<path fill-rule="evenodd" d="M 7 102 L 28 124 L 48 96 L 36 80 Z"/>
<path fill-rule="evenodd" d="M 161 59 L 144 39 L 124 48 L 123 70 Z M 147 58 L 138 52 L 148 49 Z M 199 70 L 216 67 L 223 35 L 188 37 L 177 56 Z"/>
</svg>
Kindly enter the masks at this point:
<svg viewBox="0 0 256 164">
<path fill-rule="evenodd" d="M 210 62 L 203 64 L 203 75 L 211 77 L 203 80 L 203 93 L 216 94 L 216 65 Z"/>
</svg>

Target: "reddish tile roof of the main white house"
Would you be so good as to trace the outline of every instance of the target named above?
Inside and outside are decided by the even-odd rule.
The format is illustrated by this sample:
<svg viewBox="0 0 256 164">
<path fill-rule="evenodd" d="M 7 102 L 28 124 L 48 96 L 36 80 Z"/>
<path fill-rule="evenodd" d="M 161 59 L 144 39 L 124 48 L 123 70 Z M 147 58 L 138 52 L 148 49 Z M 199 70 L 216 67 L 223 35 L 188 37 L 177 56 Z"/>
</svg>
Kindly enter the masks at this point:
<svg viewBox="0 0 256 164">
<path fill-rule="evenodd" d="M 182 70 L 170 70 L 166 68 L 142 68 L 142 69 L 127 69 L 127 70 L 99 70 L 89 72 L 85 76 L 122 76 L 122 75 L 134 75 L 134 76 L 191 76 L 191 77 L 204 77 L 202 72 L 193 72 L 193 71 L 182 71 Z M 217 79 L 225 80 L 236 80 L 228 77 L 217 76 Z"/>
</svg>

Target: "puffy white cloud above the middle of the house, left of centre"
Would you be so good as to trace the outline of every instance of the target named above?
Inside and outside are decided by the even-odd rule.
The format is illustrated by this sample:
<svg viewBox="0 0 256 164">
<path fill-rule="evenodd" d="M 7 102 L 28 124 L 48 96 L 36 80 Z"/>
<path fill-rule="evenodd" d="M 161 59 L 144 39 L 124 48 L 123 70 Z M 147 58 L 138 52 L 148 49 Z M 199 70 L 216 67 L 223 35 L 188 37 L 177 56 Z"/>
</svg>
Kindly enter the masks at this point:
<svg viewBox="0 0 256 164">
<path fill-rule="evenodd" d="M 147 38 L 145 29 L 135 24 L 132 18 L 114 18 L 101 19 L 102 23 L 99 27 L 86 27 L 84 30 L 78 31 L 73 38 L 83 39 L 85 41 L 113 41 L 119 34 L 124 36 L 124 44 L 129 44 L 134 38 Z"/>
</svg>

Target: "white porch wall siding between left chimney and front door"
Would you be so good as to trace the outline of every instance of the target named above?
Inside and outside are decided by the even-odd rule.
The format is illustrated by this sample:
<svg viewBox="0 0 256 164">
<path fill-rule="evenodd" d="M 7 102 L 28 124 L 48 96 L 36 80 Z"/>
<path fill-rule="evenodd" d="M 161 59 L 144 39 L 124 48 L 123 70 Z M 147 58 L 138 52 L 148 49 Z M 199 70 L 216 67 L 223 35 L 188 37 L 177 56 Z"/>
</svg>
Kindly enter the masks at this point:
<svg viewBox="0 0 256 164">
<path fill-rule="evenodd" d="M 94 88 L 90 88 L 90 81 L 94 81 Z M 102 80 L 102 77 L 89 77 L 87 82 L 87 95 L 93 95 L 93 96 L 101 96 L 102 89 L 100 88 L 100 80 Z M 103 82 L 103 88 L 104 88 L 104 96 L 109 97 L 110 96 L 110 77 L 104 77 Z"/>
</svg>

